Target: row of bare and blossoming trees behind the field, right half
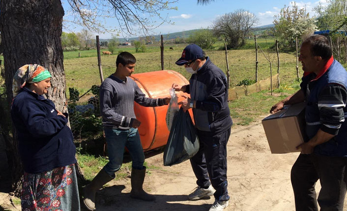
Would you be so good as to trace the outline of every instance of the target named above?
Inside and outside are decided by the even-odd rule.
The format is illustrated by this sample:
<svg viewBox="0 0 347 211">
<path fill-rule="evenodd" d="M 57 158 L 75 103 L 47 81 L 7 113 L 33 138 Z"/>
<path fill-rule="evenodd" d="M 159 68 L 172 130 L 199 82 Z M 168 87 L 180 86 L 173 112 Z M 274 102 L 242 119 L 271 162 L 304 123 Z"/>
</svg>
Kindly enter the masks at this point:
<svg viewBox="0 0 347 211">
<path fill-rule="evenodd" d="M 259 37 L 276 37 L 282 50 L 295 50 L 295 40 L 318 30 L 329 30 L 334 54 L 345 53 L 347 35 L 347 3 L 345 0 L 329 0 L 327 5 L 321 2 L 314 8 L 316 16 L 310 17 L 306 7 L 299 8 L 295 1 L 290 6 L 284 5 L 280 13 L 274 16 L 274 27 L 264 29 Z M 245 45 L 247 37 L 253 37 L 254 26 L 259 19 L 247 10 L 238 9 L 224 14 L 214 20 L 209 29 L 194 32 L 189 38 L 177 37 L 175 43 L 195 43 L 202 48 L 212 48 L 217 40 L 223 40 L 228 48 L 238 48 Z"/>
</svg>

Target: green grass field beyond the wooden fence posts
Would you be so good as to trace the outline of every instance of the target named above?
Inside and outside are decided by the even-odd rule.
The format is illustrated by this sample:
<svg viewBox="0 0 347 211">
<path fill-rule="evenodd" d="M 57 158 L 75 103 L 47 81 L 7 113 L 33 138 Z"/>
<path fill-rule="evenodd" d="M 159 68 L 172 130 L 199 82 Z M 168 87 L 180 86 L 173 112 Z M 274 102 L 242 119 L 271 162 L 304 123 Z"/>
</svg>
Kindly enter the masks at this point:
<svg viewBox="0 0 347 211">
<path fill-rule="evenodd" d="M 251 41 L 249 40 L 249 42 Z M 268 44 L 269 43 L 270 42 L 268 42 Z M 251 45 L 251 43 L 247 45 Z M 263 41 L 261 45 L 265 46 L 265 41 Z M 164 67 L 165 70 L 175 70 L 189 79 L 189 73 L 187 73 L 183 67 L 174 64 L 174 62 L 181 56 L 181 52 L 185 46 L 186 45 L 184 44 L 175 45 L 173 46 L 174 50 L 169 50 L 169 47 L 165 46 Z M 137 58 L 135 73 L 161 70 L 159 46 L 152 46 L 151 50 L 153 50 L 153 52 L 145 53 L 135 53 L 134 47 L 122 48 L 122 50 L 128 50 Z M 215 49 L 205 51 L 206 55 L 210 57 L 211 61 L 215 65 L 217 65 L 223 71 L 227 70 L 225 51 Z M 64 58 L 66 56 L 75 57 L 76 54 L 78 57 L 78 52 L 64 52 Z M 93 54 L 94 56 L 91 56 Z M 231 87 L 235 86 L 239 81 L 243 79 L 255 79 L 255 54 L 255 49 L 229 50 L 228 59 L 231 74 Z M 273 63 L 273 74 L 275 74 L 277 72 L 276 54 L 274 52 L 268 52 L 267 50 L 265 50 L 265 54 L 266 56 L 270 56 L 270 60 Z M 91 85 L 100 84 L 100 76 L 96 50 L 89 50 L 86 52 L 82 51 L 81 55 L 89 55 L 90 57 L 75 57 L 74 59 L 65 58 L 64 69 L 66 72 L 67 87 L 75 87 L 80 91 L 80 93 L 83 93 L 87 91 L 91 87 Z M 104 78 L 106 78 L 116 70 L 116 55 L 105 55 L 101 57 L 101 60 Z M 258 52 L 258 61 L 258 79 L 261 80 L 268 78 L 270 76 L 270 65 L 265 57 L 261 54 L 261 52 Z M 296 60 L 294 54 L 280 54 L 280 79 L 282 82 L 288 83 L 295 77 L 295 61 Z"/>
</svg>

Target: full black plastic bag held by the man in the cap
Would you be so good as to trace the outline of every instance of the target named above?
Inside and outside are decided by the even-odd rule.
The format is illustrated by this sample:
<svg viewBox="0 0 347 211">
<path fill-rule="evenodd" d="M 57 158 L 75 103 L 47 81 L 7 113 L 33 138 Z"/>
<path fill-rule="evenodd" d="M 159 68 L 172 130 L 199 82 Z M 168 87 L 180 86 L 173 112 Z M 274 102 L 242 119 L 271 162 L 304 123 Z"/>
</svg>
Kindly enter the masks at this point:
<svg viewBox="0 0 347 211">
<path fill-rule="evenodd" d="M 182 108 L 174 116 L 168 142 L 164 151 L 164 165 L 182 163 L 199 151 L 199 140 L 189 112 Z"/>
</svg>

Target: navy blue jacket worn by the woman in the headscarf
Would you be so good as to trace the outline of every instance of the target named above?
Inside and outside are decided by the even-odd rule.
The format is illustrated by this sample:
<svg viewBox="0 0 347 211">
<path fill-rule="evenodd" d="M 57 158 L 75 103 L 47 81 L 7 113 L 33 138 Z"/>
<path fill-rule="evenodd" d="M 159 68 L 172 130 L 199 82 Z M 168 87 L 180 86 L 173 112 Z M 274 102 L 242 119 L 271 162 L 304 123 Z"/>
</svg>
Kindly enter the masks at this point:
<svg viewBox="0 0 347 211">
<path fill-rule="evenodd" d="M 57 114 L 51 100 L 27 88 L 15 97 L 11 116 L 26 172 L 40 173 L 77 162 L 67 117 Z"/>
</svg>

